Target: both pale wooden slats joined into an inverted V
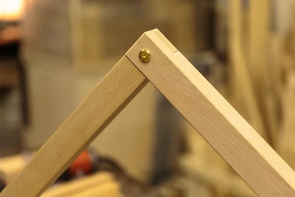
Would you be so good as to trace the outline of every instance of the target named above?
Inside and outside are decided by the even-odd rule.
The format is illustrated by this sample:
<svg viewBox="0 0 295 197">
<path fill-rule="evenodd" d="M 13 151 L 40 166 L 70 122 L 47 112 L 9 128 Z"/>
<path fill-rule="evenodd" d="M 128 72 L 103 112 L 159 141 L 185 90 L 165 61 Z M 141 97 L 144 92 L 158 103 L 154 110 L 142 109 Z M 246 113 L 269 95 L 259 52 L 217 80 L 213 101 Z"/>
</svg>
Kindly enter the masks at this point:
<svg viewBox="0 0 295 197">
<path fill-rule="evenodd" d="M 260 197 L 295 197 L 295 172 L 159 34 L 149 31 L 132 46 L 131 62 L 121 59 L 0 197 L 39 196 L 141 90 L 145 76 Z M 147 63 L 139 59 L 143 48 L 151 52 Z"/>
</svg>

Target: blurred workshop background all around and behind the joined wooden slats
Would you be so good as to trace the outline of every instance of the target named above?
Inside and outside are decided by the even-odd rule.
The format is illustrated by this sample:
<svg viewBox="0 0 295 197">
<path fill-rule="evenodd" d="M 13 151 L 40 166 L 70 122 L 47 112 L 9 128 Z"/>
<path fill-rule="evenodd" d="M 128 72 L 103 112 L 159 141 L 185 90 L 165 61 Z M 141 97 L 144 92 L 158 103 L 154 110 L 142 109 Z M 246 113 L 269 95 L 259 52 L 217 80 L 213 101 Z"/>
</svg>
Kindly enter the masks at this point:
<svg viewBox="0 0 295 197">
<path fill-rule="evenodd" d="M 0 0 L 0 190 L 155 28 L 295 169 L 295 0 Z M 151 84 L 41 197 L 93 194 L 257 196 Z"/>
</svg>

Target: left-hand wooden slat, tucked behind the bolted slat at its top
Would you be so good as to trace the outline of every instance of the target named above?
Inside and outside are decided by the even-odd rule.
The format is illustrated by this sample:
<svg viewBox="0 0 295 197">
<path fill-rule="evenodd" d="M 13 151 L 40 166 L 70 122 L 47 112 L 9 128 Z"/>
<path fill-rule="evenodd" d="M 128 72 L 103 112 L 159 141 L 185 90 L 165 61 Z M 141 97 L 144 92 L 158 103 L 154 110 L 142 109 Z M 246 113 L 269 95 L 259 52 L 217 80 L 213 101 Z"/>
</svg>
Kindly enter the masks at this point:
<svg viewBox="0 0 295 197">
<path fill-rule="evenodd" d="M 123 57 L 0 197 L 38 197 L 148 83 Z"/>
</svg>

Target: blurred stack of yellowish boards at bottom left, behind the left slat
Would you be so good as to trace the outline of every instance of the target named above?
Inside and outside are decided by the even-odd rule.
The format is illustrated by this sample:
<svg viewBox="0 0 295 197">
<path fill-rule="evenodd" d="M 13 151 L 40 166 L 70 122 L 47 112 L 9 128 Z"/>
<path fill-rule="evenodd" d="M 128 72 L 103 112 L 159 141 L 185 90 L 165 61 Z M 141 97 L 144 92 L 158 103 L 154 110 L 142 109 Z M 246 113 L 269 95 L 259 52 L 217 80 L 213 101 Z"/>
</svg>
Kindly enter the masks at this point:
<svg viewBox="0 0 295 197">
<path fill-rule="evenodd" d="M 24 155 L 16 155 L 0 159 L 0 171 L 9 184 L 27 164 Z M 121 187 L 110 172 L 96 172 L 49 188 L 41 197 L 120 197 Z"/>
</svg>

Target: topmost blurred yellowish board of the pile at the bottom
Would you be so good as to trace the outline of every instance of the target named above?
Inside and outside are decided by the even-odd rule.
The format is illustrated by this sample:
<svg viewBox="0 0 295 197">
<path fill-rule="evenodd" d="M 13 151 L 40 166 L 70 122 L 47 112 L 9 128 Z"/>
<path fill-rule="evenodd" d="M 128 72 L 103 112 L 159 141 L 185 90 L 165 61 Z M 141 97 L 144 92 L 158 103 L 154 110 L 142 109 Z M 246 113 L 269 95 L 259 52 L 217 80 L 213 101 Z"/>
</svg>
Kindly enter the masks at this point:
<svg viewBox="0 0 295 197">
<path fill-rule="evenodd" d="M 68 197 L 111 182 L 114 182 L 112 174 L 98 172 L 49 189 L 44 192 L 41 197 Z"/>
</svg>

